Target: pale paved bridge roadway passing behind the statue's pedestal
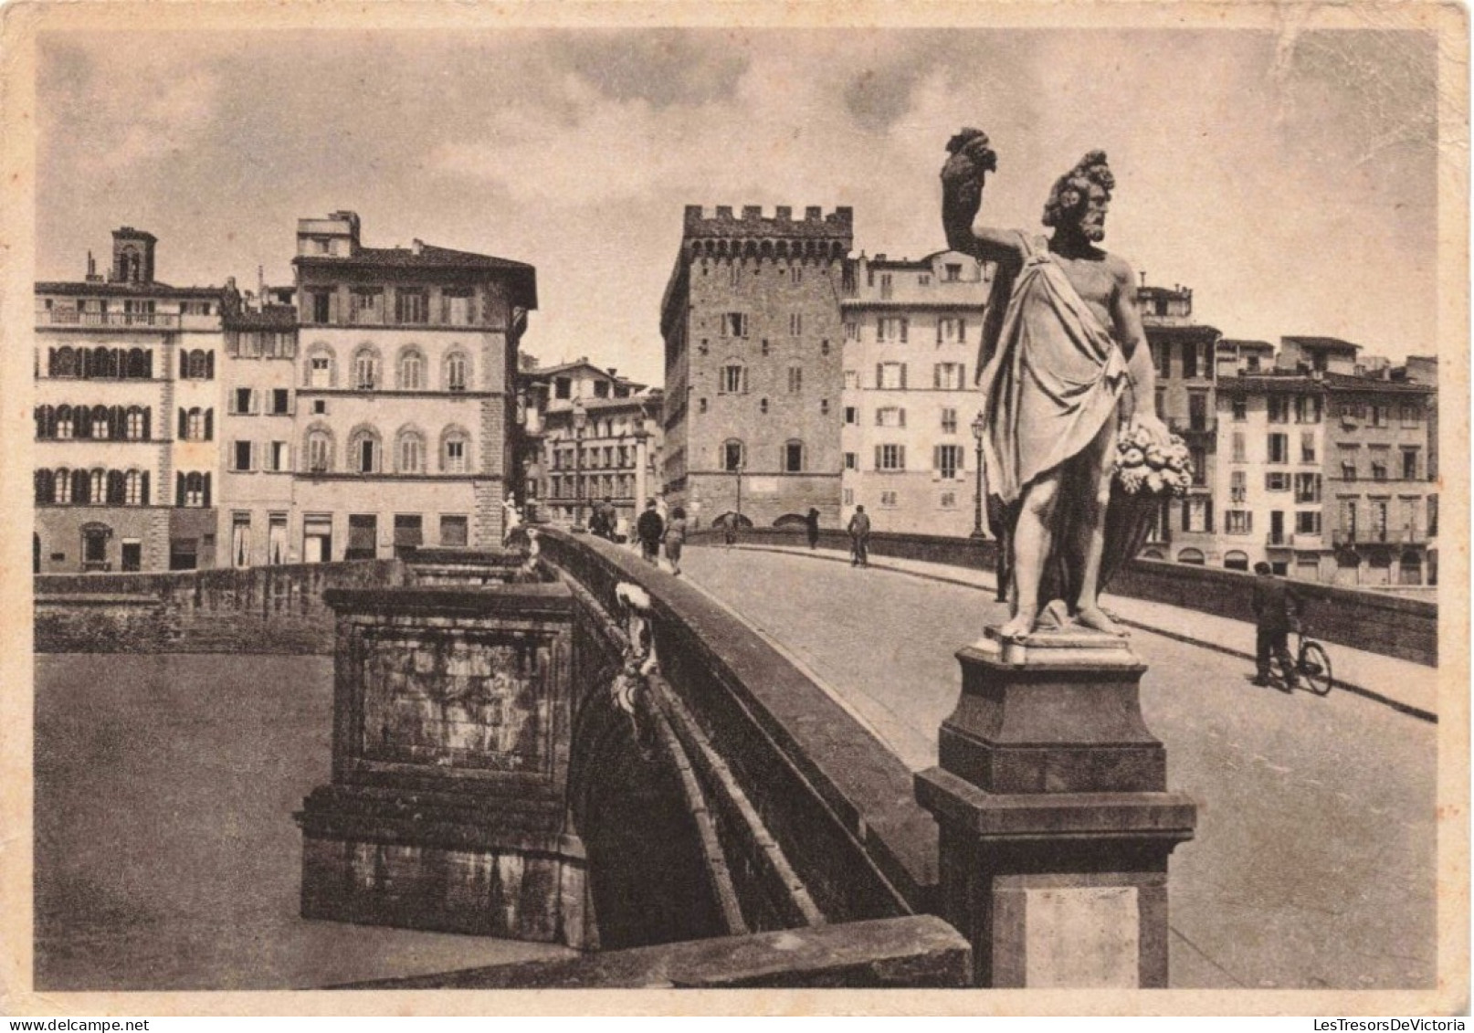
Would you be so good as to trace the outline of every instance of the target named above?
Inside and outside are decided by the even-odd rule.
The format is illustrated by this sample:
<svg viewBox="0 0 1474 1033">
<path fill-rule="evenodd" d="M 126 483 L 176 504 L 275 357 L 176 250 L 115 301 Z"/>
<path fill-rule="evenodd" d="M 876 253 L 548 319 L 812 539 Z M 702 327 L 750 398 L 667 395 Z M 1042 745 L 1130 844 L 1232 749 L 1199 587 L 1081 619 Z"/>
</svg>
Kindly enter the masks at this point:
<svg viewBox="0 0 1474 1033">
<path fill-rule="evenodd" d="M 977 586 L 836 558 L 702 547 L 682 569 L 927 768 L 952 654 L 1004 610 Z M 1132 644 L 1169 784 L 1200 805 L 1172 856 L 1173 986 L 1431 986 L 1437 725 L 1350 693 L 1256 688 L 1251 663 L 1179 638 Z"/>
</svg>

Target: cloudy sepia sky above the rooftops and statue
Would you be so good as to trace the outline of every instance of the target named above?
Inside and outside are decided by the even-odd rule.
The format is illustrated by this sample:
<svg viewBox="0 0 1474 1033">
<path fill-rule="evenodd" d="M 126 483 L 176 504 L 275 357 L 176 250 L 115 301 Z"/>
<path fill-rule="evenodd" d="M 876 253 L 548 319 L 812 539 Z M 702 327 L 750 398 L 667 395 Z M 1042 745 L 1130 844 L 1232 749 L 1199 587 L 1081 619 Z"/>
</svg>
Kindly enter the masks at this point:
<svg viewBox="0 0 1474 1033">
<path fill-rule="evenodd" d="M 921 256 L 976 125 L 986 224 L 1042 231 L 1103 149 L 1104 246 L 1200 321 L 1396 360 L 1437 349 L 1436 74 L 1430 34 L 1293 27 L 46 32 L 37 279 L 133 225 L 164 281 L 290 283 L 296 220 L 346 208 L 531 262 L 525 351 L 657 385 L 685 205 L 849 205 L 856 252 Z"/>
</svg>

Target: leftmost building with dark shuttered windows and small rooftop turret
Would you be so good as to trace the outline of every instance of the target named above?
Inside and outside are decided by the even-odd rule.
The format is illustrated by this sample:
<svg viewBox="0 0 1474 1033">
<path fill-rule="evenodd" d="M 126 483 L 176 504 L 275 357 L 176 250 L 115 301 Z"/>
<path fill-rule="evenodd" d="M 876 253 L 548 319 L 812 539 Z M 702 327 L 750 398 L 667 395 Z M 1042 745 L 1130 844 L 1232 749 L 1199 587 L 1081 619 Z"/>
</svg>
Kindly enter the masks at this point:
<svg viewBox="0 0 1474 1033">
<path fill-rule="evenodd" d="M 215 566 L 221 290 L 155 280 L 156 239 L 35 284 L 37 572 Z"/>
</svg>

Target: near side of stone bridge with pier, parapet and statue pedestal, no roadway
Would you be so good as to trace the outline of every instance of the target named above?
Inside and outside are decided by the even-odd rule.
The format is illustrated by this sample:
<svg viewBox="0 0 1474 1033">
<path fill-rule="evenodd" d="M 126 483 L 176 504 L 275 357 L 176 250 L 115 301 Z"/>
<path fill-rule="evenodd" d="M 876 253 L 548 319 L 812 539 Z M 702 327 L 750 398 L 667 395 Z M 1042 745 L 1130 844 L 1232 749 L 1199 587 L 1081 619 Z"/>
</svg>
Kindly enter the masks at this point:
<svg viewBox="0 0 1474 1033">
<path fill-rule="evenodd" d="M 1021 681 L 961 657 L 943 768 L 914 775 L 702 591 L 600 539 L 538 548 L 324 592 L 302 914 L 590 952 L 391 984 L 1166 984 L 1194 805 L 1129 651 Z"/>
</svg>

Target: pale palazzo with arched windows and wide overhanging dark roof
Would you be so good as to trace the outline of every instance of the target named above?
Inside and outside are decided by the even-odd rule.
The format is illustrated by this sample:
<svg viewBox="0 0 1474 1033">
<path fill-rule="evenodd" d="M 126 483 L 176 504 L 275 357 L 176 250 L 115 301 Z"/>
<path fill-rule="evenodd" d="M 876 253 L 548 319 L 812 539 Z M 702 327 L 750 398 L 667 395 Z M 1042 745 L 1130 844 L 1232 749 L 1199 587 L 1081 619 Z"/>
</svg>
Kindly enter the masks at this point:
<svg viewBox="0 0 1474 1033">
<path fill-rule="evenodd" d="M 298 223 L 287 539 L 307 561 L 498 545 L 537 273 L 419 240 L 366 248 L 358 228 L 354 212 Z M 252 441 L 273 439 L 262 427 Z"/>
</svg>

